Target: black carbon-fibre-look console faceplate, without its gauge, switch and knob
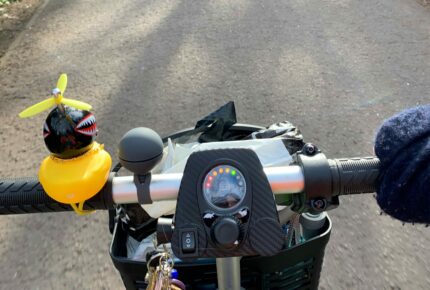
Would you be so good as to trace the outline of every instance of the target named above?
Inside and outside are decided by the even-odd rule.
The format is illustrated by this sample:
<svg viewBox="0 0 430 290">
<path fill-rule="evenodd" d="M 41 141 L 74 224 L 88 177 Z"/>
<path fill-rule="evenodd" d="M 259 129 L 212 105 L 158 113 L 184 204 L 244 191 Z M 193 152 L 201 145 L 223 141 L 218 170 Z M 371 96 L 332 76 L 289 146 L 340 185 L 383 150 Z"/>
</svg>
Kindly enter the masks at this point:
<svg viewBox="0 0 430 290">
<path fill-rule="evenodd" d="M 245 176 L 247 190 L 244 200 L 235 209 L 218 211 L 211 207 L 202 195 L 206 173 L 220 164 L 237 167 Z M 233 216 L 241 208 L 249 209 L 249 218 L 241 225 L 241 242 L 233 249 L 218 246 L 211 238 L 211 229 L 203 221 L 203 215 L 213 212 L 219 217 Z M 179 232 L 183 229 L 197 231 L 197 251 L 184 254 Z M 233 257 L 278 253 L 283 246 L 283 234 L 278 220 L 276 203 L 261 163 L 249 149 L 219 149 L 193 153 L 185 167 L 179 189 L 175 216 L 172 249 L 181 259 L 198 257 Z"/>
</svg>

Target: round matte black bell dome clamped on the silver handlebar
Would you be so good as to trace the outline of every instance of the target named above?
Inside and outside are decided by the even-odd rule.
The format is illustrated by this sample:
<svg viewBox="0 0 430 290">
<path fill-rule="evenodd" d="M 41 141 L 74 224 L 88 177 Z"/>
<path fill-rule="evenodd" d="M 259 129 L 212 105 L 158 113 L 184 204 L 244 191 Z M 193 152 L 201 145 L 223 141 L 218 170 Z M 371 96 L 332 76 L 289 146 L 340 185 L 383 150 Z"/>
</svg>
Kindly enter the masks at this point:
<svg viewBox="0 0 430 290">
<path fill-rule="evenodd" d="M 160 135 L 149 128 L 131 129 L 119 141 L 119 162 L 134 174 L 147 174 L 162 157 L 163 141 Z"/>
</svg>

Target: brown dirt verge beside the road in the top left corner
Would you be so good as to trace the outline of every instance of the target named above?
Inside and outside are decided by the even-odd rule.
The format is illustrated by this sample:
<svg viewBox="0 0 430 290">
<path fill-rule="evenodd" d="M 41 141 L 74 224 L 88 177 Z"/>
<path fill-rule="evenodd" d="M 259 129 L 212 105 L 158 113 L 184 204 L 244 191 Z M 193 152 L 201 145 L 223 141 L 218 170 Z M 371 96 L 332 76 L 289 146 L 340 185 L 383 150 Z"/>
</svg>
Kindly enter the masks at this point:
<svg viewBox="0 0 430 290">
<path fill-rule="evenodd" d="M 22 0 L 0 6 L 0 57 L 30 20 L 42 0 Z"/>
</svg>

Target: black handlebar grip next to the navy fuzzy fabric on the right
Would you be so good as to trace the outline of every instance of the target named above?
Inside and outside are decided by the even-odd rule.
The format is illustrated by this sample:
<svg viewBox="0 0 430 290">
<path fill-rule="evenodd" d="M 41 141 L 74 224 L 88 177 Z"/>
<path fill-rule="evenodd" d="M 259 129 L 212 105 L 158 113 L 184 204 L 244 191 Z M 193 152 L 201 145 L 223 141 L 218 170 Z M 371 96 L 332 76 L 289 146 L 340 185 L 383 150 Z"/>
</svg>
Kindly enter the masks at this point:
<svg viewBox="0 0 430 290">
<path fill-rule="evenodd" d="M 376 157 L 329 159 L 333 195 L 376 191 L 379 159 Z"/>
</svg>

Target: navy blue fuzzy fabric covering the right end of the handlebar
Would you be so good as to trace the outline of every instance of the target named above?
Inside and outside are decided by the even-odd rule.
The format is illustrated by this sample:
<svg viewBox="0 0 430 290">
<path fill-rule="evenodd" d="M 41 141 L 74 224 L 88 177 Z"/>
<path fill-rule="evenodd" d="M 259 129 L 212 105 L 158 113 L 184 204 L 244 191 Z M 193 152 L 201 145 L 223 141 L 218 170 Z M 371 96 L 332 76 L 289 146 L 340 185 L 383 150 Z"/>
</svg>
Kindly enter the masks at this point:
<svg viewBox="0 0 430 290">
<path fill-rule="evenodd" d="M 375 153 L 381 161 L 381 209 L 404 222 L 430 223 L 430 105 L 385 120 Z"/>
</svg>

